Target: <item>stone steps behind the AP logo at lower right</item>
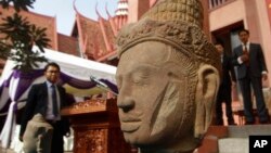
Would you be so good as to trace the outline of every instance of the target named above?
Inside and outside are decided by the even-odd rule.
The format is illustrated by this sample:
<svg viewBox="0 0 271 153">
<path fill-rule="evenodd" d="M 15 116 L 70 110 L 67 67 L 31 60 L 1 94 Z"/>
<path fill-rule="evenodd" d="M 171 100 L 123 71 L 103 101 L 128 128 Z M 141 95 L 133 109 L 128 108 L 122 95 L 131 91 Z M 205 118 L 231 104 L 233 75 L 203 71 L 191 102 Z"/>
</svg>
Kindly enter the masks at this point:
<svg viewBox="0 0 271 153">
<path fill-rule="evenodd" d="M 271 125 L 211 126 L 197 153 L 249 153 L 249 136 L 271 136 Z"/>
</svg>

